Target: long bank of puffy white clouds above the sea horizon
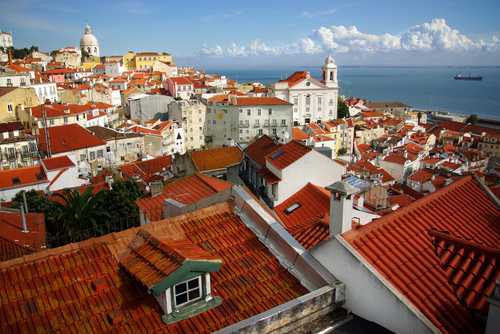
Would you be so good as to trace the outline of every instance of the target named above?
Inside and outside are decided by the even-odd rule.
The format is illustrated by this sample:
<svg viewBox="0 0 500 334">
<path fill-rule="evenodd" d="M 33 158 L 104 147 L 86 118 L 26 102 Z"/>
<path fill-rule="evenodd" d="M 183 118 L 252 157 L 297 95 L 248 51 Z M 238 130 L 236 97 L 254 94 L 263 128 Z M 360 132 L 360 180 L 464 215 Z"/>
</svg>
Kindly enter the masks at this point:
<svg viewBox="0 0 500 334">
<path fill-rule="evenodd" d="M 446 50 L 464 52 L 470 50 L 500 50 L 500 40 L 493 36 L 490 41 L 474 40 L 450 27 L 445 19 L 436 18 L 430 22 L 410 27 L 401 35 L 390 33 L 370 34 L 359 31 L 356 26 L 319 27 L 309 36 L 282 45 L 270 45 L 254 40 L 248 45 L 232 43 L 229 47 L 217 45 L 204 47 L 202 55 L 211 56 L 256 56 L 331 53 L 376 53 L 403 51 Z"/>
</svg>

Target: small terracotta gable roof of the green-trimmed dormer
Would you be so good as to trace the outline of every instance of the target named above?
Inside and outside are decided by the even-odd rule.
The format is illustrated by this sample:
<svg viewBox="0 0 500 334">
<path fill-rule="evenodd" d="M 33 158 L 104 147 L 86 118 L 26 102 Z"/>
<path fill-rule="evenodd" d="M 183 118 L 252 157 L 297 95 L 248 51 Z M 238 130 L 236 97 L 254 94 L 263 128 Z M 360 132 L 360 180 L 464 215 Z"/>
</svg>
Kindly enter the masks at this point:
<svg viewBox="0 0 500 334">
<path fill-rule="evenodd" d="M 219 259 L 188 239 L 158 240 L 141 230 L 128 245 L 120 264 L 150 289 L 179 269 L 186 260 Z"/>
</svg>

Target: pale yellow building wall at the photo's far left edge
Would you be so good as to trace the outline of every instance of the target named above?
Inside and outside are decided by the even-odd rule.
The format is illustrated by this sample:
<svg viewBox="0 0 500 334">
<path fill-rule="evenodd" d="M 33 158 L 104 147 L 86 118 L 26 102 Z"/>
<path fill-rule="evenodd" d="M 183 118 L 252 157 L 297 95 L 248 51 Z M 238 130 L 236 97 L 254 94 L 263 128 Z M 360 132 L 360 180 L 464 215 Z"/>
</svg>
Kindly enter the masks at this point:
<svg viewBox="0 0 500 334">
<path fill-rule="evenodd" d="M 39 104 L 33 88 L 0 87 L 0 123 L 16 121 L 26 108 Z"/>
</svg>

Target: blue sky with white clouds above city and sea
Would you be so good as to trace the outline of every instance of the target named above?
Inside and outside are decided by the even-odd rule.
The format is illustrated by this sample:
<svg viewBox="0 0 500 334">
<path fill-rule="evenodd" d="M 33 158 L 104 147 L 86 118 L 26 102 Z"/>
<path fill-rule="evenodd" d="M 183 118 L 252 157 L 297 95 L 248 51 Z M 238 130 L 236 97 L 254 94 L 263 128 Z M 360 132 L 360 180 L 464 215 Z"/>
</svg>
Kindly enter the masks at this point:
<svg viewBox="0 0 500 334">
<path fill-rule="evenodd" d="M 258 67 L 500 65 L 500 1 L 0 0 L 17 47 L 78 45 L 89 23 L 101 54 L 171 52 L 180 64 Z"/>
</svg>

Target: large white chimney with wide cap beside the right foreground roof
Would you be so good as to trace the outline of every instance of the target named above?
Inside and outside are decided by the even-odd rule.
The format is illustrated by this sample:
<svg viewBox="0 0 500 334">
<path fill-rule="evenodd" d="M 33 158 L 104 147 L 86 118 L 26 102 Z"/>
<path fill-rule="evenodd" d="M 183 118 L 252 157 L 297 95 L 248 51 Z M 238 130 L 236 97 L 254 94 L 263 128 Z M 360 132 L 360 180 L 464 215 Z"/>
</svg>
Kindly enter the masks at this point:
<svg viewBox="0 0 500 334">
<path fill-rule="evenodd" d="M 352 226 L 352 196 L 359 191 L 344 181 L 326 187 L 330 199 L 330 237 L 349 231 Z"/>
</svg>

